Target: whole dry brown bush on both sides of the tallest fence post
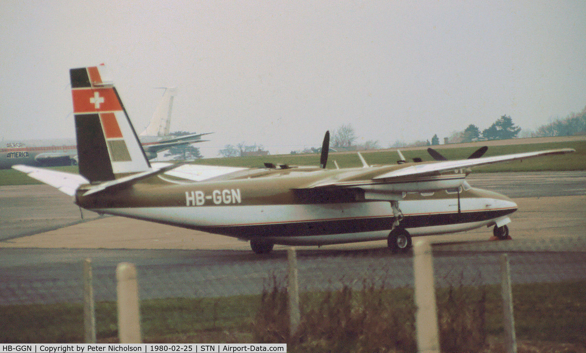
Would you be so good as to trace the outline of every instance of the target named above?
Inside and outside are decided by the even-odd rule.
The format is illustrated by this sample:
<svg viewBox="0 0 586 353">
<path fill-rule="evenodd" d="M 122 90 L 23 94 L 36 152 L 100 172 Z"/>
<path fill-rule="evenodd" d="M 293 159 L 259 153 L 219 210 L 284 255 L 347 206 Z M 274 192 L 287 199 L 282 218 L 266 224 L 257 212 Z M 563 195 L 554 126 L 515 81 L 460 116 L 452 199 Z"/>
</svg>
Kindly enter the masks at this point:
<svg viewBox="0 0 586 353">
<path fill-rule="evenodd" d="M 460 285 L 438 292 L 442 352 L 486 351 L 486 291 Z M 299 352 L 417 351 L 412 290 L 364 282 L 359 290 L 344 285 L 305 294 L 294 335 L 289 335 L 287 289 L 273 283 L 261 298 L 253 323 L 256 342 L 287 343 Z"/>
</svg>

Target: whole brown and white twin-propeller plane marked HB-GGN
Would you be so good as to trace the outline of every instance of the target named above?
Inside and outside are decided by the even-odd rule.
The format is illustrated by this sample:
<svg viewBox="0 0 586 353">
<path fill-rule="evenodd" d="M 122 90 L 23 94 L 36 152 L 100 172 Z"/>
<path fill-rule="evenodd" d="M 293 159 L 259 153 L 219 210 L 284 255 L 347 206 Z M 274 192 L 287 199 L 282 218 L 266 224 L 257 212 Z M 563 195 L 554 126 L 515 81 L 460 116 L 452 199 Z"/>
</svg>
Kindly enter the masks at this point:
<svg viewBox="0 0 586 353">
<path fill-rule="evenodd" d="M 517 204 L 466 182 L 472 166 L 574 152 L 544 150 L 434 161 L 326 169 L 329 132 L 319 167 L 265 163 L 257 169 L 149 163 L 111 82 L 95 67 L 70 70 L 81 175 L 28 166 L 15 169 L 100 214 L 199 229 L 250 241 L 254 252 L 274 244 L 325 245 L 388 239 L 393 252 L 411 237 L 494 226 L 508 237 Z M 101 104 L 94 104 L 99 100 Z"/>
</svg>

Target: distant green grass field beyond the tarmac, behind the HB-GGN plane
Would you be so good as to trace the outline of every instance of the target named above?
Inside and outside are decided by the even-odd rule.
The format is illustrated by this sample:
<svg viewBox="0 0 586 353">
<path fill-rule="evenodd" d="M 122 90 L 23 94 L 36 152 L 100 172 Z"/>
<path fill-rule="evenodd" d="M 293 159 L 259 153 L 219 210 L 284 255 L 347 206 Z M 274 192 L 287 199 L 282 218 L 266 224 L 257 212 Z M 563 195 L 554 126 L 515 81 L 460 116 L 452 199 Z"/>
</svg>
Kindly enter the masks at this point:
<svg viewBox="0 0 586 353">
<path fill-rule="evenodd" d="M 479 145 L 480 146 L 480 145 Z M 465 159 L 471 155 L 476 147 L 467 148 L 442 148 L 436 146 L 436 150 L 448 159 Z M 550 142 L 550 143 L 531 143 L 523 145 L 502 145 L 490 146 L 485 156 L 507 155 L 509 153 L 531 152 L 537 150 L 548 150 L 558 148 L 573 148 L 574 153 L 565 155 L 536 157 L 532 159 L 495 163 L 487 166 L 474 167 L 473 173 L 492 173 L 492 172 L 541 172 L 550 170 L 586 170 L 586 141 L 571 142 Z M 420 157 L 424 161 L 432 160 L 428 155 L 427 146 L 418 150 L 405 150 L 403 155 L 407 160 L 413 157 Z M 398 155 L 395 151 L 376 151 L 361 152 L 369 164 L 394 164 L 397 163 Z M 335 168 L 333 161 L 336 160 L 341 168 L 362 166 L 356 153 L 331 153 L 328 159 L 328 168 Z M 230 158 L 206 158 L 193 161 L 193 164 L 210 164 L 218 166 L 234 167 L 263 167 L 264 162 L 284 163 L 294 166 L 317 166 L 319 164 L 319 155 L 270 155 L 260 157 L 230 157 Z M 51 167 L 51 169 L 62 170 L 64 172 L 77 173 L 76 166 L 68 167 Z M 14 169 L 0 170 L 0 185 L 25 185 L 41 184 L 18 172 Z"/>
</svg>

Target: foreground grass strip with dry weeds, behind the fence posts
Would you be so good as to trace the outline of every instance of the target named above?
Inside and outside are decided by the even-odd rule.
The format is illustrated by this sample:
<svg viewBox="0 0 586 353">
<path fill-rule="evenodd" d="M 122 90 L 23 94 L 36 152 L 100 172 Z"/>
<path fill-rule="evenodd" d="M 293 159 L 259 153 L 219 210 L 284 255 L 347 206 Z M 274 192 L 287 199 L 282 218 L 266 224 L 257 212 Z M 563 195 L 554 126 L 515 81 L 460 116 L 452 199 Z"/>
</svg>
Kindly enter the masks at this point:
<svg viewBox="0 0 586 353">
<path fill-rule="evenodd" d="M 513 286 L 517 339 L 586 345 L 585 288 L 586 282 L 583 281 Z M 381 328 L 385 330 L 381 325 L 393 324 L 390 322 L 393 317 L 400 318 L 397 329 L 400 332 L 395 334 L 414 340 L 414 303 L 410 288 L 366 287 L 350 292 L 337 290 L 302 294 L 300 332 L 306 331 L 304 335 L 307 339 L 295 344 L 291 343 L 291 337 L 287 334 L 285 293 L 278 292 L 277 296 L 271 296 L 271 290 L 268 290 L 264 296 L 143 300 L 143 340 L 168 343 L 289 340 L 290 351 L 308 351 L 312 340 L 321 342 L 323 348 L 332 348 L 340 342 L 335 337 L 345 335 L 349 338 L 345 344 L 356 347 L 374 341 L 361 343 L 360 333 L 365 330 L 374 333 Z M 469 335 L 481 335 L 481 341 L 485 341 L 488 337 L 499 338 L 502 335 L 499 286 L 438 289 L 437 298 L 442 317 L 440 330 L 445 340 L 466 340 Z M 98 342 L 117 340 L 116 315 L 115 303 L 96 303 Z M 285 323 L 281 322 L 283 320 Z M 457 324 L 458 320 L 464 321 Z M 346 323 L 345 327 L 340 327 L 341 321 Z M 446 325 L 446 322 L 452 324 Z M 81 304 L 0 307 L 2 342 L 83 342 L 83 330 Z M 310 350 L 328 351 L 314 348 Z"/>
</svg>

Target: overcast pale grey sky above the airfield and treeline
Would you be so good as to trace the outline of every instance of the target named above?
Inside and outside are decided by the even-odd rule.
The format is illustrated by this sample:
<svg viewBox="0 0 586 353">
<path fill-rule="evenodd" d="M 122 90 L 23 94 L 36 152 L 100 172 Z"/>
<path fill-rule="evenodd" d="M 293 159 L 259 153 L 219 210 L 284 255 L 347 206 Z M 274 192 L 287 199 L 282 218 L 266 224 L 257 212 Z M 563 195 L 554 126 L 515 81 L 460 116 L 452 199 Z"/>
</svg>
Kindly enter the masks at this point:
<svg viewBox="0 0 586 353">
<path fill-rule="evenodd" d="M 0 139 L 73 137 L 69 68 L 107 64 L 138 132 L 176 86 L 171 130 L 272 154 L 442 139 L 586 105 L 584 1 L 2 1 Z"/>
</svg>

